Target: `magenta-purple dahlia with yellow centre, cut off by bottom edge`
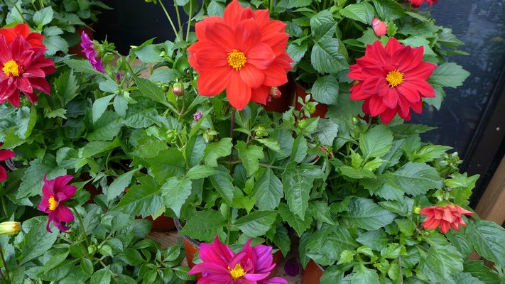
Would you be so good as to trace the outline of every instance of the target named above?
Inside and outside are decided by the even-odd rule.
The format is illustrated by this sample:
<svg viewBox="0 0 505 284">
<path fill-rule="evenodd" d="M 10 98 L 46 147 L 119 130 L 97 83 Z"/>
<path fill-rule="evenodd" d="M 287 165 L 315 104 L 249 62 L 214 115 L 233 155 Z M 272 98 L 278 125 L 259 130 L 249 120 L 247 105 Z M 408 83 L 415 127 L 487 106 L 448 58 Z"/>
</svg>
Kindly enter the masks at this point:
<svg viewBox="0 0 505 284">
<path fill-rule="evenodd" d="M 212 244 L 200 245 L 203 262 L 188 273 L 202 273 L 198 284 L 288 284 L 280 277 L 266 279 L 276 267 L 272 263 L 272 248 L 261 244 L 251 247 L 251 241 L 239 253 L 234 253 L 216 236 Z"/>
</svg>

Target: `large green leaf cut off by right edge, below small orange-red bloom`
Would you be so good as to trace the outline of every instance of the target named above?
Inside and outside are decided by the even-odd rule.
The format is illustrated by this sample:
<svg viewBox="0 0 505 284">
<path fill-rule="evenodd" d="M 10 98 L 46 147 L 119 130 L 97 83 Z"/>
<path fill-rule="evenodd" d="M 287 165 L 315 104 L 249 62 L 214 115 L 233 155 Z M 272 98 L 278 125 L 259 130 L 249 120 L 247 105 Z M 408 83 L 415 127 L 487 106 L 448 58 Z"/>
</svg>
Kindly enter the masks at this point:
<svg viewBox="0 0 505 284">
<path fill-rule="evenodd" d="M 466 234 L 480 256 L 505 267 L 504 228 L 494 222 L 479 220 L 468 224 Z"/>
</svg>

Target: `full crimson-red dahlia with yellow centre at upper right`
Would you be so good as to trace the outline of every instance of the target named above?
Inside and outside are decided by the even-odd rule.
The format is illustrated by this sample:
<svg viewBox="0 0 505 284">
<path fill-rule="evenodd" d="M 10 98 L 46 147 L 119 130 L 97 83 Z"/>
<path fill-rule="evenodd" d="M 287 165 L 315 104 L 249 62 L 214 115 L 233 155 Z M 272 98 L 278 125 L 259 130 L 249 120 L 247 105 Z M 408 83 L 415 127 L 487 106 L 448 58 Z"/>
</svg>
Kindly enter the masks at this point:
<svg viewBox="0 0 505 284">
<path fill-rule="evenodd" d="M 423 60 L 424 48 L 411 48 L 391 38 L 386 45 L 377 40 L 366 46 L 365 55 L 350 67 L 349 78 L 359 81 L 351 87 L 351 99 L 364 99 L 365 114 L 381 116 L 384 124 L 396 114 L 411 119 L 411 108 L 420 114 L 423 97 L 435 97 L 426 82 L 437 67 Z"/>
</svg>

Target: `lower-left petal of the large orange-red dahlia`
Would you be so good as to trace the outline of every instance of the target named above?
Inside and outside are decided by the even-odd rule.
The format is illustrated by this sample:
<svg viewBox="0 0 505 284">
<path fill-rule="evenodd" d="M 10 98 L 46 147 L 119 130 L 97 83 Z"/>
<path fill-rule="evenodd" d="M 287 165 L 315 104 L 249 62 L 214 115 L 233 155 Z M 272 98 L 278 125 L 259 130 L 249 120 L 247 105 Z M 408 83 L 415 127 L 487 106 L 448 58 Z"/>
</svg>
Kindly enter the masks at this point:
<svg viewBox="0 0 505 284">
<path fill-rule="evenodd" d="M 198 92 L 204 96 L 215 96 L 223 92 L 232 73 L 236 73 L 236 71 L 228 66 L 205 70 L 198 78 Z"/>
</svg>

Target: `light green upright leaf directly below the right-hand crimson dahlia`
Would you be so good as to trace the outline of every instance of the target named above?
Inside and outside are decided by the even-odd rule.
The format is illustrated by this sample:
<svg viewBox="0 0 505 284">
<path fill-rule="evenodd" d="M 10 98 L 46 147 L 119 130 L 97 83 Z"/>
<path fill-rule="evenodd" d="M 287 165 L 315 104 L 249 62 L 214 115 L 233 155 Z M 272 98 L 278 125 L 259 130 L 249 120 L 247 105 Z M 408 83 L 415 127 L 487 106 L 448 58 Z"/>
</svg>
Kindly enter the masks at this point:
<svg viewBox="0 0 505 284">
<path fill-rule="evenodd" d="M 365 161 L 386 155 L 393 146 L 393 133 L 388 126 L 379 124 L 359 136 L 359 148 Z"/>
</svg>

